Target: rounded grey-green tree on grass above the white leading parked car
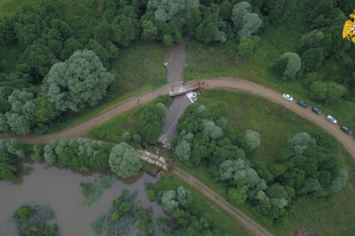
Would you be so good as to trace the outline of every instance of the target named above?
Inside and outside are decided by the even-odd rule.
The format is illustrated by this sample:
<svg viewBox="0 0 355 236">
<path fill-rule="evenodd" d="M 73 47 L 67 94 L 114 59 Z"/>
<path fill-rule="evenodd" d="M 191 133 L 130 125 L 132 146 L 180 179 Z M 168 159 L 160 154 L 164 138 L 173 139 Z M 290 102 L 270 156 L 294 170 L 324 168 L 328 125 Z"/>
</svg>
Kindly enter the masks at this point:
<svg viewBox="0 0 355 236">
<path fill-rule="evenodd" d="M 301 69 L 301 59 L 296 53 L 286 52 L 272 65 L 271 69 L 284 80 L 293 79 Z"/>
</svg>

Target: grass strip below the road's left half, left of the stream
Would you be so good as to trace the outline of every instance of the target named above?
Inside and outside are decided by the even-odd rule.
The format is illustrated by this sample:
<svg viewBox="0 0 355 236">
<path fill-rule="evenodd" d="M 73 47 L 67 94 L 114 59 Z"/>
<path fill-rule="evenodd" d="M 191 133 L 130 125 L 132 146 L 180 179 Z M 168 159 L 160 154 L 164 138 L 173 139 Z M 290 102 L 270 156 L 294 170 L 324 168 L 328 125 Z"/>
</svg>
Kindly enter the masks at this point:
<svg viewBox="0 0 355 236">
<path fill-rule="evenodd" d="M 121 143 L 123 141 L 122 134 L 137 126 L 139 114 L 142 110 L 146 108 L 148 104 L 159 102 L 163 103 L 168 108 L 173 102 L 173 99 L 168 95 L 160 96 L 147 104 L 141 105 L 133 110 L 126 111 L 109 121 L 95 126 L 88 132 L 86 137 L 104 140 L 111 143 Z"/>
</svg>

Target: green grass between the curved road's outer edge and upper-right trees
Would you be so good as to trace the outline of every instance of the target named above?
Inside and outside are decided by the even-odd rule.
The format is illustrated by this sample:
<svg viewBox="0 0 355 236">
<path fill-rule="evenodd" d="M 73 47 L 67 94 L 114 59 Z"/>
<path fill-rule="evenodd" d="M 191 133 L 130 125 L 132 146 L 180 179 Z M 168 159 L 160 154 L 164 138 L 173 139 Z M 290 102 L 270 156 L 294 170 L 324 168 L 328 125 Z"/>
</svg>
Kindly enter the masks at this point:
<svg viewBox="0 0 355 236">
<path fill-rule="evenodd" d="M 316 102 L 310 98 L 308 87 L 302 85 L 301 79 L 284 81 L 268 69 L 283 53 L 296 52 L 299 39 L 308 31 L 301 20 L 295 19 L 277 27 L 270 26 L 260 35 L 260 43 L 252 56 L 244 59 L 239 65 L 233 62 L 236 48 L 233 48 L 228 41 L 224 45 L 214 45 L 214 52 L 208 50 L 209 46 L 193 41 L 187 47 L 188 66 L 184 70 L 185 80 L 221 76 L 251 80 L 280 93 L 288 93 L 295 99 L 302 99 L 311 107 L 318 107 L 323 113 L 335 116 L 341 124 L 354 130 L 355 102 L 343 99 L 331 104 Z M 340 82 L 344 73 L 348 71 L 339 71 L 336 64 L 328 62 L 322 66 L 318 74 L 324 81 Z"/>
</svg>

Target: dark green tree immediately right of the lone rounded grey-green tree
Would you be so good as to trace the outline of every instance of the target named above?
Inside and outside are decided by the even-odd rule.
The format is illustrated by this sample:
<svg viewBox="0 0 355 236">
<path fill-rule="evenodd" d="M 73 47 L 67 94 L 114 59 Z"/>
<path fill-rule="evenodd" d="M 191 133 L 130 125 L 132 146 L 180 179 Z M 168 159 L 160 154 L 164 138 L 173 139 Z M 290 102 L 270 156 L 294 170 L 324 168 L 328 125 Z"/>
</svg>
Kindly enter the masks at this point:
<svg viewBox="0 0 355 236">
<path fill-rule="evenodd" d="M 323 59 L 323 48 L 310 48 L 302 53 L 302 67 L 307 72 L 316 70 L 323 64 Z"/>
</svg>

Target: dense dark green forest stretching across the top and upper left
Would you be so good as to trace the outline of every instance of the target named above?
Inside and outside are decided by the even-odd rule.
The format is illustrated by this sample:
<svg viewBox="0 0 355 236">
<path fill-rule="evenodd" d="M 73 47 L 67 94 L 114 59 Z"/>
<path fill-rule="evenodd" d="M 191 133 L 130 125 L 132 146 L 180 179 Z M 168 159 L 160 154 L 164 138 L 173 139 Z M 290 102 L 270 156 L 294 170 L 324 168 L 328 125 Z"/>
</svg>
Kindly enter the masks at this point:
<svg viewBox="0 0 355 236">
<path fill-rule="evenodd" d="M 68 112 L 97 104 L 115 80 L 112 62 L 133 41 L 169 45 L 191 34 L 204 44 L 225 45 L 240 63 L 269 27 L 296 13 L 304 15 L 308 32 L 297 51 L 286 52 L 270 70 L 285 80 L 304 78 L 316 100 L 354 97 L 349 73 L 354 47 L 339 33 L 350 1 L 104 0 L 100 11 L 95 1 L 86 1 L 90 18 L 88 12 L 68 17 L 64 5 L 61 0 L 25 2 L 0 20 L 0 131 L 45 133 Z M 7 60 L 9 54 L 17 58 Z M 347 73 L 336 82 L 322 82 L 314 71 L 327 63 Z"/>
</svg>

